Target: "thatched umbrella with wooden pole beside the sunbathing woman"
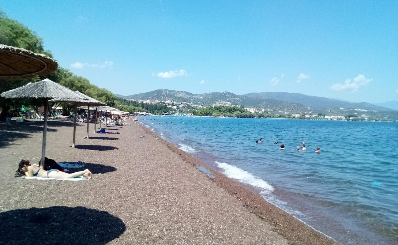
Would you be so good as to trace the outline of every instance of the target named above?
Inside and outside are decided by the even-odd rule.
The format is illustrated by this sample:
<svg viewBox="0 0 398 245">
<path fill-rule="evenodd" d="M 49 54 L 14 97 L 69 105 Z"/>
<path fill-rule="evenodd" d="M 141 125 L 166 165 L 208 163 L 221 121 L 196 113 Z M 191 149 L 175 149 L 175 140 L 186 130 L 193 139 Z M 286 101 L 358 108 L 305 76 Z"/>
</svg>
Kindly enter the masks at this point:
<svg viewBox="0 0 398 245">
<path fill-rule="evenodd" d="M 41 149 L 41 160 L 44 163 L 47 138 L 47 114 L 49 99 L 65 98 L 68 100 L 86 100 L 80 94 L 76 94 L 73 90 L 66 88 L 50 79 L 44 79 L 40 82 L 26 84 L 19 88 L 15 88 L 1 94 L 5 98 L 43 98 L 44 99 L 44 129 L 43 129 L 43 146 Z"/>
</svg>

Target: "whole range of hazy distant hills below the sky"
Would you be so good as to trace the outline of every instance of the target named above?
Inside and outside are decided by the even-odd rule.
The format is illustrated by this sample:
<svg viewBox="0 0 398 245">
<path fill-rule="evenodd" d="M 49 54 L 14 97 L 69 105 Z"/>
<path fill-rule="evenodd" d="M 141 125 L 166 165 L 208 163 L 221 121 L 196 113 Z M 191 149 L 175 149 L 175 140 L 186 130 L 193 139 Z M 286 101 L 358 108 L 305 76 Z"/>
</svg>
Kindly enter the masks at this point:
<svg viewBox="0 0 398 245">
<path fill-rule="evenodd" d="M 361 108 L 370 111 L 388 112 L 390 108 L 369 104 L 367 102 L 355 103 L 331 98 L 310 96 L 287 92 L 261 92 L 237 95 L 230 92 L 212 92 L 205 94 L 192 94 L 185 91 L 158 89 L 151 92 L 124 96 L 125 99 L 137 100 L 173 100 L 181 102 L 193 102 L 201 105 L 211 105 L 215 102 L 228 101 L 234 105 L 255 107 L 273 110 L 289 110 L 290 112 L 328 112 L 344 108 L 347 110 Z M 308 109 L 311 108 L 310 109 Z"/>
</svg>

